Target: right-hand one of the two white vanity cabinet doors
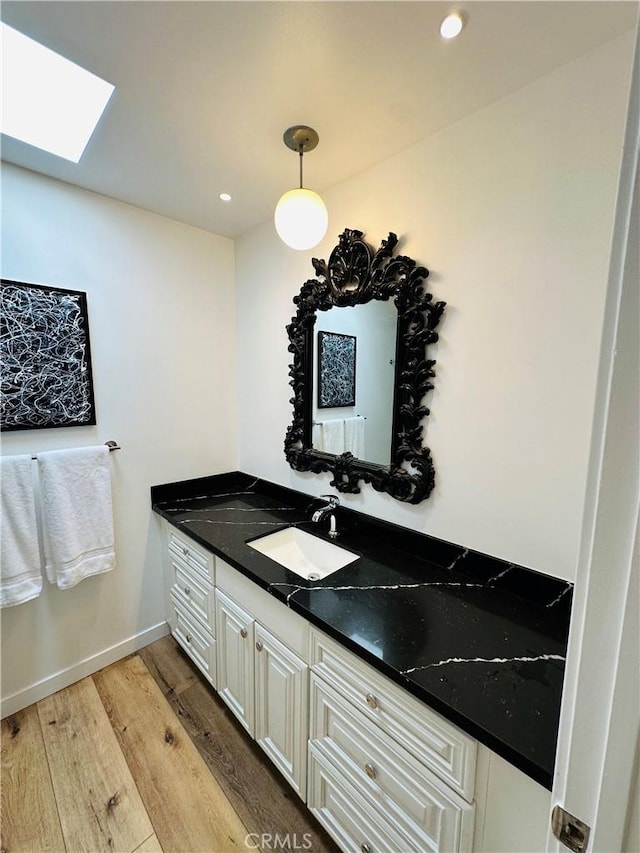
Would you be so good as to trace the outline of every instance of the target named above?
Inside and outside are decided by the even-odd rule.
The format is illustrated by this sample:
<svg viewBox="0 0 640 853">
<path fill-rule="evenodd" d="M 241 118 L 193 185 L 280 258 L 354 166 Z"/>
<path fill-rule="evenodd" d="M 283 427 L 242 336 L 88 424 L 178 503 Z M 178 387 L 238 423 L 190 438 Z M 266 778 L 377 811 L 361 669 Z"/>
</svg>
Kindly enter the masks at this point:
<svg viewBox="0 0 640 853">
<path fill-rule="evenodd" d="M 256 740 L 304 800 L 308 667 L 256 623 Z"/>
</svg>

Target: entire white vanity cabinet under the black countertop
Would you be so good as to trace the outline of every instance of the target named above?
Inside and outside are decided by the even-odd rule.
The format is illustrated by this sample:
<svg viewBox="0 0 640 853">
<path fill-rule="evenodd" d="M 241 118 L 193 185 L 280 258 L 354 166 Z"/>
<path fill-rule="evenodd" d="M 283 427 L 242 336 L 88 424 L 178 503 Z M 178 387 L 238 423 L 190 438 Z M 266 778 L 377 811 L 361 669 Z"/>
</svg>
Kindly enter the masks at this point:
<svg viewBox="0 0 640 853">
<path fill-rule="evenodd" d="M 342 850 L 544 849 L 549 791 L 165 529 L 173 636 Z"/>
</svg>

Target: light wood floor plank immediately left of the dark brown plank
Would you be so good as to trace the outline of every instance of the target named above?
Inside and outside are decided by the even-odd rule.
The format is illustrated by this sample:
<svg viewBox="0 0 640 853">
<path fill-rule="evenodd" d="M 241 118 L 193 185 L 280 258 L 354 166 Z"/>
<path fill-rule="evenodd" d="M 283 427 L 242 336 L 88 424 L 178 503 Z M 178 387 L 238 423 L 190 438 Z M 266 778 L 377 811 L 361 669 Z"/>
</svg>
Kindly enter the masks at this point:
<svg viewBox="0 0 640 853">
<path fill-rule="evenodd" d="M 246 828 L 142 660 L 93 678 L 163 851 L 248 849 Z"/>
</svg>

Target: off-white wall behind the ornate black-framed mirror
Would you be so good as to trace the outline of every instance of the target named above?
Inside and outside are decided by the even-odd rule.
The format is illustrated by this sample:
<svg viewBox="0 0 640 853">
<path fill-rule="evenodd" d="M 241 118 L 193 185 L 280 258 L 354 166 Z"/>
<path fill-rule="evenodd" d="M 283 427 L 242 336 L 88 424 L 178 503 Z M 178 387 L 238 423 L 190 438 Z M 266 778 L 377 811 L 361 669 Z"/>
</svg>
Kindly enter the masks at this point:
<svg viewBox="0 0 640 853">
<path fill-rule="evenodd" d="M 241 469 L 329 490 L 329 475 L 290 470 L 282 451 L 292 298 L 345 227 L 375 247 L 395 231 L 448 304 L 426 433 L 437 484 L 415 507 L 368 486 L 343 504 L 575 578 L 632 42 L 326 192 L 328 237 L 313 252 L 287 249 L 270 223 L 237 241 Z"/>
</svg>

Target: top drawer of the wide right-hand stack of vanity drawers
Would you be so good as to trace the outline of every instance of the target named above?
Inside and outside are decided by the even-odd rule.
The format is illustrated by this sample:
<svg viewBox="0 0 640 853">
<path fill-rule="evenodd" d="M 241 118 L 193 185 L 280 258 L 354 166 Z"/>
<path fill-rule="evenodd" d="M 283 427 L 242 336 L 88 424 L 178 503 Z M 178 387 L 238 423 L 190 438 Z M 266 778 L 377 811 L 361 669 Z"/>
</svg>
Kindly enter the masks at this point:
<svg viewBox="0 0 640 853">
<path fill-rule="evenodd" d="M 310 662 L 341 696 L 471 802 L 476 741 L 316 629 Z"/>
</svg>

